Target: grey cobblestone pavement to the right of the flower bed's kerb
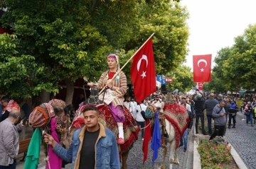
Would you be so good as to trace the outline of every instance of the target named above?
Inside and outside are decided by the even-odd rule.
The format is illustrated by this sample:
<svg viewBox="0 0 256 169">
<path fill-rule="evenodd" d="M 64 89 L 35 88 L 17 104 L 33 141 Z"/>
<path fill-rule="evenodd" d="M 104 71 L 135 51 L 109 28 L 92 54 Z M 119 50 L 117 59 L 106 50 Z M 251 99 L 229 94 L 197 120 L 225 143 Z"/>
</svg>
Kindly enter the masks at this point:
<svg viewBox="0 0 256 169">
<path fill-rule="evenodd" d="M 251 127 L 242 117 L 241 112 L 238 112 L 236 128 L 227 129 L 225 139 L 235 148 L 245 165 L 252 169 L 256 168 L 256 125 Z"/>
</svg>

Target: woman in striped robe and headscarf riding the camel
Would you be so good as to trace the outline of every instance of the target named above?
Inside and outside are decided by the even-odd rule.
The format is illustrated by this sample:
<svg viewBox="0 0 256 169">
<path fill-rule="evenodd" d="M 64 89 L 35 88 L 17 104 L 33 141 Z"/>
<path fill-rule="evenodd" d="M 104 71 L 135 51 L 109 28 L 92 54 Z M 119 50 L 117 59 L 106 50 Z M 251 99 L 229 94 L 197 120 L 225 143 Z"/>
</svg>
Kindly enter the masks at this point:
<svg viewBox="0 0 256 169">
<path fill-rule="evenodd" d="M 119 71 L 119 59 L 116 54 L 110 54 L 107 57 L 107 66 L 109 69 L 105 71 L 97 83 L 88 83 L 87 85 L 97 86 L 98 89 L 106 86 L 105 92 L 99 95 L 99 100 L 102 100 L 110 107 L 112 115 L 118 126 L 117 144 L 124 144 L 124 95 L 127 93 L 127 77 L 123 71 Z M 111 80 L 116 72 L 117 76 Z M 104 99 L 104 100 L 103 100 Z"/>
</svg>

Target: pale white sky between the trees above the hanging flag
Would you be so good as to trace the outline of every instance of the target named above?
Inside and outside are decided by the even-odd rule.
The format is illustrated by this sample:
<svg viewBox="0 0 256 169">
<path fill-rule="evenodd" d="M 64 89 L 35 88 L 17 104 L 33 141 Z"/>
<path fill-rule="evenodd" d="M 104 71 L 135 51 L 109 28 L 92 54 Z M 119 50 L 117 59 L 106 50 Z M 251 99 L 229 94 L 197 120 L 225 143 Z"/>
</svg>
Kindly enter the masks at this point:
<svg viewBox="0 0 256 169">
<path fill-rule="evenodd" d="M 188 55 L 186 66 L 193 70 L 193 55 L 212 54 L 232 46 L 234 38 L 244 33 L 249 24 L 256 24 L 256 0 L 181 0 L 188 19 Z"/>
</svg>

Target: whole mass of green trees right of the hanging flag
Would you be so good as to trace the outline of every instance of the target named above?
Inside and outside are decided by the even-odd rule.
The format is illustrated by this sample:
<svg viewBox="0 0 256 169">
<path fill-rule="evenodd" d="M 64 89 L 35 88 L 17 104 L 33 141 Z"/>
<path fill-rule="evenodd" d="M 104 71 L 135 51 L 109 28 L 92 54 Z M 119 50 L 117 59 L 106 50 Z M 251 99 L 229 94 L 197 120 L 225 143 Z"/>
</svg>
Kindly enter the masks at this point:
<svg viewBox="0 0 256 169">
<path fill-rule="evenodd" d="M 235 37 L 232 47 L 220 49 L 215 58 L 213 91 L 238 91 L 238 88 L 255 88 L 256 74 L 256 25 L 249 25 L 245 32 Z"/>
</svg>

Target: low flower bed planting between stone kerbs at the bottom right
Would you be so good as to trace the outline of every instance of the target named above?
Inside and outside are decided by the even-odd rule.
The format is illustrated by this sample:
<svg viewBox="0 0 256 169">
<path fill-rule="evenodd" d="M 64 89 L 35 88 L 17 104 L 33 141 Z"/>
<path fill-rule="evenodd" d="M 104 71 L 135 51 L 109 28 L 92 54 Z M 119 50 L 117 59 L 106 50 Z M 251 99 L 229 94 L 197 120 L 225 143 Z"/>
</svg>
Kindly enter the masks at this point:
<svg viewBox="0 0 256 169">
<path fill-rule="evenodd" d="M 229 168 L 227 164 L 232 163 L 233 158 L 230 153 L 231 147 L 228 144 L 217 144 L 216 140 L 202 139 L 198 152 L 201 156 L 201 166 L 203 169 Z"/>
</svg>

